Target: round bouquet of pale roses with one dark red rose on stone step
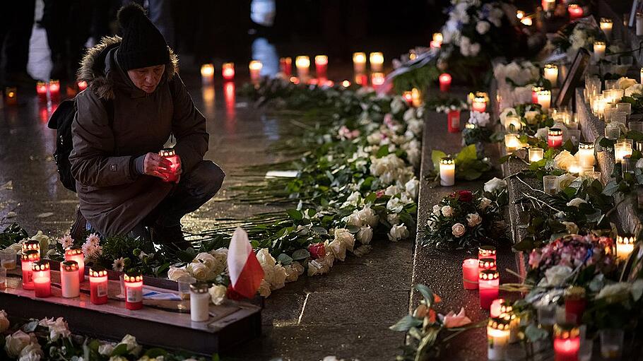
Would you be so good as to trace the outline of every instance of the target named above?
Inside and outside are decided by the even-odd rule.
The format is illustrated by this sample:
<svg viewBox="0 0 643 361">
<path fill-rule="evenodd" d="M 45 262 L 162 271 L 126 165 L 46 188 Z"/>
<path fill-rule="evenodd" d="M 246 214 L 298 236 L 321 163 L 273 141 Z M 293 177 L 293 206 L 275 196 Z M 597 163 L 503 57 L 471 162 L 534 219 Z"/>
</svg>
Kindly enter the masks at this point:
<svg viewBox="0 0 643 361">
<path fill-rule="evenodd" d="M 436 247 L 473 249 L 497 231 L 498 204 L 471 191 L 456 191 L 433 206 L 424 241 Z"/>
</svg>

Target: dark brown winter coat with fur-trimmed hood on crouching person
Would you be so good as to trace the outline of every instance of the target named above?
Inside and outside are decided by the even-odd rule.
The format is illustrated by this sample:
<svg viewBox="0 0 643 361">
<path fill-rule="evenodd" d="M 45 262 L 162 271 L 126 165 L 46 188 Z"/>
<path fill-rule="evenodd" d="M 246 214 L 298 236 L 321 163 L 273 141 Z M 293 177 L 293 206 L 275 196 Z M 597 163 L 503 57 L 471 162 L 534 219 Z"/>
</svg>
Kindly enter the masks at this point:
<svg viewBox="0 0 643 361">
<path fill-rule="evenodd" d="M 189 172 L 208 150 L 206 119 L 179 78 L 176 55 L 170 50 L 162 80 L 147 94 L 119 68 L 119 42 L 106 37 L 85 55 L 78 80 L 90 86 L 76 97 L 71 130 L 69 160 L 81 213 L 102 235 L 128 233 L 172 189 L 157 177 L 139 175 L 136 157 L 158 152 L 173 134 L 183 172 Z M 111 122 L 106 104 L 113 109 Z"/>
</svg>

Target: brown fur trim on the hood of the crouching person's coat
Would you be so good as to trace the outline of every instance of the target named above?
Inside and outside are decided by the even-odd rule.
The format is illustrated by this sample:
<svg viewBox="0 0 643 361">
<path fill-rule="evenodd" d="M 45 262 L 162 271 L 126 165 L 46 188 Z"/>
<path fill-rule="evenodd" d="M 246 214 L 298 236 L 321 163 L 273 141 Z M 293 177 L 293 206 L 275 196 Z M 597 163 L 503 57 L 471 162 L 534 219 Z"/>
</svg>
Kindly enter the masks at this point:
<svg viewBox="0 0 643 361">
<path fill-rule="evenodd" d="M 111 69 L 112 66 L 109 64 L 107 54 L 110 53 L 110 50 L 117 49 L 120 43 L 121 37 L 119 36 L 103 37 L 97 45 L 87 49 L 81 61 L 81 67 L 76 73 L 78 81 L 86 81 L 93 93 L 107 100 L 114 99 L 116 86 L 112 74 L 115 69 Z M 170 63 L 165 64 L 165 73 L 163 74 L 165 81 L 169 81 L 179 70 L 179 58 L 170 47 L 167 49 L 170 52 Z"/>
</svg>

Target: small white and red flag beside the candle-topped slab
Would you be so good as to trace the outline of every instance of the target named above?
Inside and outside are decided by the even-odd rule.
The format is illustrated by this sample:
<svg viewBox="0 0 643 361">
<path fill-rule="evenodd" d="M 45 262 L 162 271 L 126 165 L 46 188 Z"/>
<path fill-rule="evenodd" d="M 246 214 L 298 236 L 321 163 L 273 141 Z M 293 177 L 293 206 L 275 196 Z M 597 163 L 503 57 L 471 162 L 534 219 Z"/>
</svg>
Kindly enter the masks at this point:
<svg viewBox="0 0 643 361">
<path fill-rule="evenodd" d="M 264 279 L 264 268 L 256 259 L 248 234 L 237 227 L 228 248 L 228 270 L 232 290 L 247 298 L 253 298 Z"/>
</svg>

